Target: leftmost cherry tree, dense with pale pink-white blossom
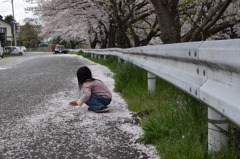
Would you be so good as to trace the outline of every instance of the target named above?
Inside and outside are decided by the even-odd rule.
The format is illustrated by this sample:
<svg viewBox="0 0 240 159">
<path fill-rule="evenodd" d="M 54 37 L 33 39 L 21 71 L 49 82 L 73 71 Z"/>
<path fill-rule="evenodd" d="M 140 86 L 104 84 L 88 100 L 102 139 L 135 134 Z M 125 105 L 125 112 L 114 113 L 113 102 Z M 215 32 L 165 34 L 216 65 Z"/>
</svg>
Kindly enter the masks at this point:
<svg viewBox="0 0 240 159">
<path fill-rule="evenodd" d="M 71 44 L 72 48 L 86 39 L 87 25 L 81 17 L 82 13 L 75 10 L 84 2 L 78 1 L 37 1 L 35 13 L 43 22 L 41 36 L 61 38 Z"/>
</svg>

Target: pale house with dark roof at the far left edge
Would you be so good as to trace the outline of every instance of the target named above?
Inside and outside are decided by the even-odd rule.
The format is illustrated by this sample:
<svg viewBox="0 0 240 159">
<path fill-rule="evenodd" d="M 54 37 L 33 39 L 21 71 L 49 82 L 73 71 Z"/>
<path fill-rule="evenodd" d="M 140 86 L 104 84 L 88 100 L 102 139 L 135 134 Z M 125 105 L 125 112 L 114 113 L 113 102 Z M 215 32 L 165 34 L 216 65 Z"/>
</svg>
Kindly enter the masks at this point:
<svg viewBox="0 0 240 159">
<path fill-rule="evenodd" d="M 3 46 L 12 45 L 13 42 L 12 26 L 3 19 L 0 19 L 0 41 Z"/>
</svg>

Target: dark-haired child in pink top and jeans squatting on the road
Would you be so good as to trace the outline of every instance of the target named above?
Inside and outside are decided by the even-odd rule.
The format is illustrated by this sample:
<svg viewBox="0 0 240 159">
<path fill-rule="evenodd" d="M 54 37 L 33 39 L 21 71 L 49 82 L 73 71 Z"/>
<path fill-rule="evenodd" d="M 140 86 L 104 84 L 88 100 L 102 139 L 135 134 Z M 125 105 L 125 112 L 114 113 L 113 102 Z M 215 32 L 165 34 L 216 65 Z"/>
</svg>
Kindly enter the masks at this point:
<svg viewBox="0 0 240 159">
<path fill-rule="evenodd" d="M 88 110 L 96 113 L 108 112 L 107 105 L 112 101 L 112 94 L 108 87 L 102 81 L 92 78 L 91 70 L 86 66 L 78 69 L 77 78 L 79 88 L 83 90 L 83 96 L 69 104 L 71 106 L 81 106 L 85 103 L 89 106 Z"/>
</svg>

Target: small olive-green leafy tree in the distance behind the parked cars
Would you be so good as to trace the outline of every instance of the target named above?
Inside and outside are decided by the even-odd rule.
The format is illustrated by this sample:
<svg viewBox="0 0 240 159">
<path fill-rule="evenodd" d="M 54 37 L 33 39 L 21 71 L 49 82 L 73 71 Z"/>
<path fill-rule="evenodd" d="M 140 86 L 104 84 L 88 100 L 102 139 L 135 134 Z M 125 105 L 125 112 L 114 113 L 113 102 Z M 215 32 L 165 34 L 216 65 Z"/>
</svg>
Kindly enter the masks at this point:
<svg viewBox="0 0 240 159">
<path fill-rule="evenodd" d="M 36 47 L 41 43 L 41 38 L 38 36 L 41 26 L 35 22 L 34 19 L 27 18 L 24 20 L 24 25 L 20 26 L 18 33 L 18 41 L 20 45 L 29 47 Z"/>
</svg>

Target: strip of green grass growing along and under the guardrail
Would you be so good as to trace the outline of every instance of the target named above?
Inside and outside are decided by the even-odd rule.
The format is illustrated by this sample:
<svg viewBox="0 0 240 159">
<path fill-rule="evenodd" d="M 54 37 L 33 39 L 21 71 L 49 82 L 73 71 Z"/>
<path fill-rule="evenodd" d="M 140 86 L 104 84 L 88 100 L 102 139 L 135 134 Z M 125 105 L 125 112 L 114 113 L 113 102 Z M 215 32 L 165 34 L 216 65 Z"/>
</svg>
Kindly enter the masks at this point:
<svg viewBox="0 0 240 159">
<path fill-rule="evenodd" d="M 90 58 L 89 54 L 75 54 Z M 207 105 L 159 78 L 155 93 L 150 94 L 147 72 L 130 63 L 119 64 L 116 57 L 91 60 L 115 73 L 115 91 L 121 93 L 131 111 L 148 112 L 141 118 L 144 135 L 138 141 L 154 144 L 162 159 L 240 158 L 233 142 L 236 138 L 231 135 L 228 148 L 208 154 Z"/>
</svg>

